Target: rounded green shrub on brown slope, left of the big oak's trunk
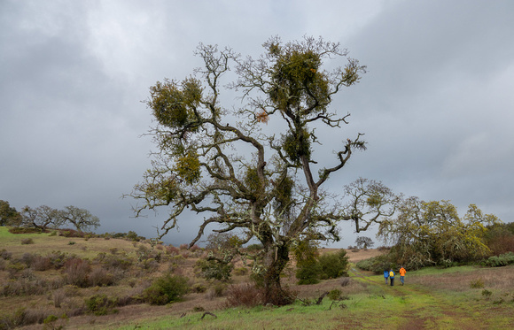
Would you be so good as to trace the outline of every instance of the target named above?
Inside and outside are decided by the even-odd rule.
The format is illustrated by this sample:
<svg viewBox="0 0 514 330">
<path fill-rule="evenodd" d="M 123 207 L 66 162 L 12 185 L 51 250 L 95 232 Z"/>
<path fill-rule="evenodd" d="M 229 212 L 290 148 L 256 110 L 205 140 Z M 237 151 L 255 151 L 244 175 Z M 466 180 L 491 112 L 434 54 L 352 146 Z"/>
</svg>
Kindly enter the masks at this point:
<svg viewBox="0 0 514 330">
<path fill-rule="evenodd" d="M 188 290 L 187 278 L 168 272 L 143 291 L 143 299 L 147 303 L 162 305 L 180 300 Z"/>
</svg>

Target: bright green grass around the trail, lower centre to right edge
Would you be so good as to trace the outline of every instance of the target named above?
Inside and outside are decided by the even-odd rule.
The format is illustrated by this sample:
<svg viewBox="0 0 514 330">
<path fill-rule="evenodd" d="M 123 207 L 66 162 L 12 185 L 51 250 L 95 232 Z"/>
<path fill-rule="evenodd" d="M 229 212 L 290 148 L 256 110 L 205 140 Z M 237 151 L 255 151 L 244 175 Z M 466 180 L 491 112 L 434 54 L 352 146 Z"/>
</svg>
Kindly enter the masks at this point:
<svg viewBox="0 0 514 330">
<path fill-rule="evenodd" d="M 284 307 L 225 309 L 214 311 L 217 318 L 203 312 L 187 313 L 183 318 L 139 319 L 113 329 L 352 329 L 352 328 L 434 328 L 434 329 L 509 329 L 514 326 L 514 287 L 504 303 L 495 304 L 481 296 L 481 290 L 459 284 L 459 278 L 479 275 L 489 268 L 463 266 L 450 269 L 429 268 L 409 272 L 407 285 L 386 286 L 381 275 L 352 271 L 353 294 L 345 308 L 331 305 L 303 306 L 297 302 Z M 514 272 L 514 267 L 506 272 Z M 444 288 L 431 284 L 441 283 Z M 411 283 L 409 283 L 409 280 Z M 431 282 L 426 282 L 432 280 Z M 439 282 L 438 282 L 439 280 Z M 396 281 L 400 283 L 399 278 Z M 440 284 L 441 285 L 441 284 Z M 345 288 L 343 288 L 344 290 Z M 356 292 L 355 292 L 356 291 Z M 507 302 L 509 300 L 509 302 Z M 173 309 L 173 305 L 169 306 Z"/>
</svg>

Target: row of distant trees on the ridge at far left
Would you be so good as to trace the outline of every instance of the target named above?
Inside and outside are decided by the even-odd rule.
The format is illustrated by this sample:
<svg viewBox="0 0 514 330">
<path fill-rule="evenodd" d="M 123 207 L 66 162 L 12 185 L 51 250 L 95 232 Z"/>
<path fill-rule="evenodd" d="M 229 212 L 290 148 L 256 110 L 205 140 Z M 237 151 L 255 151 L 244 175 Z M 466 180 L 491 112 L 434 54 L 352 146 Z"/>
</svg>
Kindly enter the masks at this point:
<svg viewBox="0 0 514 330">
<path fill-rule="evenodd" d="M 86 209 L 66 206 L 62 210 L 47 205 L 36 208 L 25 206 L 17 211 L 8 202 L 0 200 L 0 226 L 21 226 L 40 231 L 73 225 L 77 231 L 89 231 L 100 226 L 100 219 Z"/>
</svg>

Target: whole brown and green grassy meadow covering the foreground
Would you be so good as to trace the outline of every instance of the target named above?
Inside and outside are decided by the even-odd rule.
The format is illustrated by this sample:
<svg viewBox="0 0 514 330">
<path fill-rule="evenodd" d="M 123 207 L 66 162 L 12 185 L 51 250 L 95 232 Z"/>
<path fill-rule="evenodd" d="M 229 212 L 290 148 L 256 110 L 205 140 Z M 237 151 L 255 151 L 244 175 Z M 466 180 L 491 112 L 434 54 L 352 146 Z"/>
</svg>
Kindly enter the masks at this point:
<svg viewBox="0 0 514 330">
<path fill-rule="evenodd" d="M 298 286 L 291 265 L 283 282 L 298 292 L 295 303 L 229 308 L 231 286 L 249 281 L 248 272 L 241 272 L 245 265 L 237 265 L 239 272 L 230 283 L 204 280 L 194 266 L 206 257 L 203 249 L 160 245 L 152 249 L 149 242 L 109 237 L 10 234 L 0 227 L 0 250 L 0 329 L 514 328 L 512 265 L 408 270 L 405 286 L 397 279 L 394 287 L 385 285 L 382 275 L 364 272 L 354 264 L 349 278 Z M 375 249 L 348 251 L 348 256 L 355 263 L 379 253 Z M 73 258 L 75 264 L 77 259 L 87 260 L 88 273 L 98 277 L 97 285 L 70 284 L 74 273 L 66 266 L 43 267 L 35 262 L 58 263 L 59 257 Z M 169 271 L 190 279 L 191 291 L 183 301 L 155 306 L 137 299 L 152 280 Z M 325 292 L 331 295 L 316 304 Z M 91 296 L 100 295 L 116 298 L 116 305 L 105 315 L 84 307 Z"/>
</svg>

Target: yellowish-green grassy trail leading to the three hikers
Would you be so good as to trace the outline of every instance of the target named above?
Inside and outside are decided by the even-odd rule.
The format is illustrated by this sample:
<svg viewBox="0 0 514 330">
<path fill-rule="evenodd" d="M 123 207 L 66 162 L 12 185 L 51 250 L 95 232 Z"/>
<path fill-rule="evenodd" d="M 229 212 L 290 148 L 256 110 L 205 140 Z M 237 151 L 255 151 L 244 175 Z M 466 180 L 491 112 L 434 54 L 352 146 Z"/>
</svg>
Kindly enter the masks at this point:
<svg viewBox="0 0 514 330">
<path fill-rule="evenodd" d="M 395 277 L 395 285 L 385 285 L 382 275 L 363 272 L 357 268 L 350 270 L 351 276 L 377 288 L 385 299 L 401 299 L 401 318 L 398 329 L 486 329 L 482 319 L 476 314 L 466 311 L 463 306 L 451 302 L 440 295 L 419 285 L 410 285 L 406 276 L 406 285 L 402 286 L 400 276 Z M 380 294 L 379 294 L 380 295 Z"/>
</svg>

